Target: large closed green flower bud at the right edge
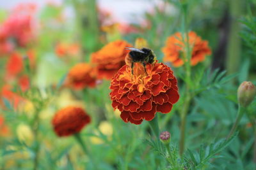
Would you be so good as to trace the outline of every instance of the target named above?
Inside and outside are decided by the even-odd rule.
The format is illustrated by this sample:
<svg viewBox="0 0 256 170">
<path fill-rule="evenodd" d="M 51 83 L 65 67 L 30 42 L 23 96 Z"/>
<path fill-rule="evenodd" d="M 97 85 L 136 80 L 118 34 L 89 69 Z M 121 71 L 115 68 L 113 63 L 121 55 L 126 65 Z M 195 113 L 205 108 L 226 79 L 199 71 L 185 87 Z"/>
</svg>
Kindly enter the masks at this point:
<svg viewBox="0 0 256 170">
<path fill-rule="evenodd" d="M 251 81 L 244 81 L 237 90 L 237 99 L 243 107 L 249 106 L 256 96 L 256 87 Z"/>
</svg>

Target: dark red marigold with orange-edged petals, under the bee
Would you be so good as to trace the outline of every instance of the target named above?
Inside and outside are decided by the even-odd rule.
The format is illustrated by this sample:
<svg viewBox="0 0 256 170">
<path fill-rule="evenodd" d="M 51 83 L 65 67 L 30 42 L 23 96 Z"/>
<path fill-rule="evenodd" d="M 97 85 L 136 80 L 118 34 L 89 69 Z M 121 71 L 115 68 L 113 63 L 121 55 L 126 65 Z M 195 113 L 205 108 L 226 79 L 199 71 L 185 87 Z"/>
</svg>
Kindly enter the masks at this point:
<svg viewBox="0 0 256 170">
<path fill-rule="evenodd" d="M 146 71 L 141 63 L 131 67 L 125 65 L 111 81 L 113 108 L 121 111 L 124 122 L 141 124 L 143 119 L 152 120 L 156 112 L 169 113 L 179 100 L 177 80 L 170 67 L 163 63 L 147 64 Z"/>
</svg>

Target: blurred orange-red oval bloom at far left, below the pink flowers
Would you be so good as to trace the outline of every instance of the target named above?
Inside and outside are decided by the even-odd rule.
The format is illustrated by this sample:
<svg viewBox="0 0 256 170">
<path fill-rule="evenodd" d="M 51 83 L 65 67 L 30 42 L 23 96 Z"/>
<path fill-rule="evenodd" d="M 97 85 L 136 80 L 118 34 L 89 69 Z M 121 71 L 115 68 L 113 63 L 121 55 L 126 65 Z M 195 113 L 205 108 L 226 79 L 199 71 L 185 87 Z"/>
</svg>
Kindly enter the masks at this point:
<svg viewBox="0 0 256 170">
<path fill-rule="evenodd" d="M 19 53 L 12 53 L 7 64 L 6 72 L 8 76 L 16 76 L 23 69 L 23 60 Z"/>
</svg>

